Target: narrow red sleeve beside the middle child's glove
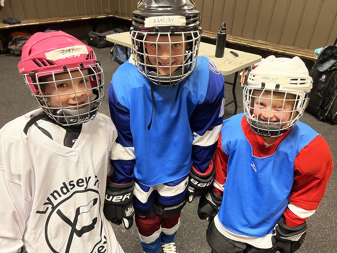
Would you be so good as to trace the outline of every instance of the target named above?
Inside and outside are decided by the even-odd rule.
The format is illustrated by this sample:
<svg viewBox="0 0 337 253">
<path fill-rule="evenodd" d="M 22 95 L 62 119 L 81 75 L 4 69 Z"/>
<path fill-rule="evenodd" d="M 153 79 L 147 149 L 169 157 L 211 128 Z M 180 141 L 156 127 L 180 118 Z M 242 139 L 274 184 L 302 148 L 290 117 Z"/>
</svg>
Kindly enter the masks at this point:
<svg viewBox="0 0 337 253">
<path fill-rule="evenodd" d="M 215 176 L 213 186 L 217 194 L 223 193 L 223 186 L 227 176 L 228 155 L 225 154 L 221 147 L 221 134 L 218 140 L 218 145 L 214 154 Z"/>
</svg>

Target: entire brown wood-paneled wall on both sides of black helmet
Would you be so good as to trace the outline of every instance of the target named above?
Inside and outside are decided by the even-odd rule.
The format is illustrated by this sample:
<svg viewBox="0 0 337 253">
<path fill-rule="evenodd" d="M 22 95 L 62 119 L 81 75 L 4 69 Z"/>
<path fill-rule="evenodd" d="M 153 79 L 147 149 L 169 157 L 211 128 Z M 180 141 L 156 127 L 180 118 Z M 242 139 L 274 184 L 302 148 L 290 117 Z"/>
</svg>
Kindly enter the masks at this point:
<svg viewBox="0 0 337 253">
<path fill-rule="evenodd" d="M 138 0 L 5 0 L 0 18 L 47 19 L 112 15 L 130 20 Z M 337 37 L 336 0 L 195 0 L 205 31 L 216 32 L 221 22 L 227 33 L 315 49 Z"/>
</svg>

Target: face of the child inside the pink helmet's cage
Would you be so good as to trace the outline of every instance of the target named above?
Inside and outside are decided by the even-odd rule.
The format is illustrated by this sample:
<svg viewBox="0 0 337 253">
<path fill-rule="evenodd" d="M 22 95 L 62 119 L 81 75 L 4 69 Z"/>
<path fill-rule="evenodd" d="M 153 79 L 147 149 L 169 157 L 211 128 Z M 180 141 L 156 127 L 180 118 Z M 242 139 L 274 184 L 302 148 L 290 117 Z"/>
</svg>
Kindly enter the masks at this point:
<svg viewBox="0 0 337 253">
<path fill-rule="evenodd" d="M 81 72 L 73 71 L 71 77 L 69 73 L 55 75 L 55 83 L 53 76 L 43 79 L 43 82 L 50 82 L 45 84 L 43 92 L 44 100 L 50 107 L 75 109 L 91 101 L 92 90 L 88 69 Z"/>
</svg>

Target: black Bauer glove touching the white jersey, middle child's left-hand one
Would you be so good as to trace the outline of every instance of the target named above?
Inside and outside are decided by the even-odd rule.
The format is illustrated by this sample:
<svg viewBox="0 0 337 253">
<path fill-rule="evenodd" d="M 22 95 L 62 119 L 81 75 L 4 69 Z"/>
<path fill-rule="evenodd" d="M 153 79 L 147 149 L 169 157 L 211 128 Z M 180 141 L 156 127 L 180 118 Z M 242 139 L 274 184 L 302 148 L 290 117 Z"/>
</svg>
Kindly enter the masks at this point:
<svg viewBox="0 0 337 253">
<path fill-rule="evenodd" d="M 109 181 L 106 182 L 103 208 L 105 218 L 117 225 L 123 223 L 126 229 L 130 229 L 133 224 L 133 185 L 133 181 L 124 185 L 113 184 Z"/>
</svg>

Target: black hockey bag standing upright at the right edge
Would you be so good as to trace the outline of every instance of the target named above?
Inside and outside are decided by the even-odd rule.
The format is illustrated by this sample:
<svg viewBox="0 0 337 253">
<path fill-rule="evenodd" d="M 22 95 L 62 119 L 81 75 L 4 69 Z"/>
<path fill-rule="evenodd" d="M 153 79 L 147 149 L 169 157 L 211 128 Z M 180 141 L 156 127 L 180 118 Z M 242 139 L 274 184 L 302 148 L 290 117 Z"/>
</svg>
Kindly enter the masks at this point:
<svg viewBox="0 0 337 253">
<path fill-rule="evenodd" d="M 337 47 L 325 47 L 309 72 L 313 84 L 307 112 L 321 121 L 337 123 Z"/>
</svg>

